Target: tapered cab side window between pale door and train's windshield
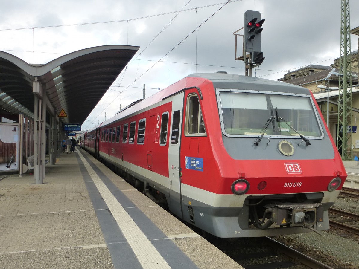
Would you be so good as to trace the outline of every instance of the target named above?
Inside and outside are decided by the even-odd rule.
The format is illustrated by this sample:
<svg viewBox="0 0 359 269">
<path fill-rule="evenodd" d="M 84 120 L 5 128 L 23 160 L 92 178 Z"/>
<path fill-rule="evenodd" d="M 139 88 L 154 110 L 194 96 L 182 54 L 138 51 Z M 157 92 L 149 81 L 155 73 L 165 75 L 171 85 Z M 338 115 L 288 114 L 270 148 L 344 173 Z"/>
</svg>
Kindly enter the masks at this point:
<svg viewBox="0 0 359 269">
<path fill-rule="evenodd" d="M 186 135 L 206 135 L 200 103 L 195 94 L 188 95 L 187 99 Z"/>
</svg>

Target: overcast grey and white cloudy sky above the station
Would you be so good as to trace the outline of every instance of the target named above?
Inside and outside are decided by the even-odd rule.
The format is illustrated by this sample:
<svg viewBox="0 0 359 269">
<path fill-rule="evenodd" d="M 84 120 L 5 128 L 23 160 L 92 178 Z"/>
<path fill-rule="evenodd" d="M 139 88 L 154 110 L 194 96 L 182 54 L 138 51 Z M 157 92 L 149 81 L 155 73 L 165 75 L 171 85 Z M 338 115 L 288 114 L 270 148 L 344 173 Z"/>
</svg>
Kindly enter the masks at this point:
<svg viewBox="0 0 359 269">
<path fill-rule="evenodd" d="M 45 64 L 88 47 L 139 46 L 127 70 L 122 71 L 84 122 L 83 130 L 104 121 L 105 112 L 108 119 L 120 105 L 123 108 L 141 99 L 144 84 L 148 97 L 156 89 L 196 72 L 244 75 L 243 61 L 234 60 L 233 33 L 243 27 L 246 10 L 259 11 L 265 19 L 262 32 L 265 60 L 253 76 L 276 80 L 288 70 L 311 63 L 330 65 L 340 56 L 340 0 L 226 3 L 226 0 L 0 0 L 0 50 L 28 63 Z M 359 1 L 350 0 L 351 29 L 359 26 L 358 11 Z M 357 49 L 358 36 L 351 35 L 351 51 Z"/>
</svg>

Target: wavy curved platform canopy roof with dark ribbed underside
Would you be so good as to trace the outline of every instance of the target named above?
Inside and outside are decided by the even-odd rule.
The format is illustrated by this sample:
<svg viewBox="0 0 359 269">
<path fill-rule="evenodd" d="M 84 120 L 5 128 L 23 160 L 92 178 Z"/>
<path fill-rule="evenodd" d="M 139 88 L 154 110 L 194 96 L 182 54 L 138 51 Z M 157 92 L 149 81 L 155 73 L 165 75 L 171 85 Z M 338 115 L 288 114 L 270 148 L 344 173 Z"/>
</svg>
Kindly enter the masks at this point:
<svg viewBox="0 0 359 269">
<path fill-rule="evenodd" d="M 0 51 L 0 113 L 34 116 L 33 82 L 47 94 L 47 108 L 63 122 L 83 124 L 139 47 L 108 45 L 81 49 L 45 65 L 28 64 Z"/>
</svg>

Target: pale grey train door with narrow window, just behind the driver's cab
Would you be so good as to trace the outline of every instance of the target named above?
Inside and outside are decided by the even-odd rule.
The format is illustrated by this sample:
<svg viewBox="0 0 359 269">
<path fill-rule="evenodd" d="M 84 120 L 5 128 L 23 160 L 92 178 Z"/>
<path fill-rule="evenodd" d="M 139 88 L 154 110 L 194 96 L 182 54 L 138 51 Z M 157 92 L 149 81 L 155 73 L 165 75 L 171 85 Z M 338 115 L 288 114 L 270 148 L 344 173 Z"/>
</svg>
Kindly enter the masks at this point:
<svg viewBox="0 0 359 269">
<path fill-rule="evenodd" d="M 171 211 L 182 217 L 180 181 L 180 145 L 184 92 L 173 96 L 171 124 L 169 126 L 168 177 Z"/>
</svg>

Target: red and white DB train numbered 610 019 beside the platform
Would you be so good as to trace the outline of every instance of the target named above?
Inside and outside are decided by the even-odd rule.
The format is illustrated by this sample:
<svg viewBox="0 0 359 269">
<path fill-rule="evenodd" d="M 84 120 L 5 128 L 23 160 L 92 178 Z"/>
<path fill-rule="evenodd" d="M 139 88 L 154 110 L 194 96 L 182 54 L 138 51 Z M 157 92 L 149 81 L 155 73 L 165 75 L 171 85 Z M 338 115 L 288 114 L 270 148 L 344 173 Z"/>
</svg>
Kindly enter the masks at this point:
<svg viewBox="0 0 359 269">
<path fill-rule="evenodd" d="M 226 72 L 189 75 L 81 140 L 155 202 L 218 237 L 328 229 L 346 178 L 311 91 Z"/>
</svg>

